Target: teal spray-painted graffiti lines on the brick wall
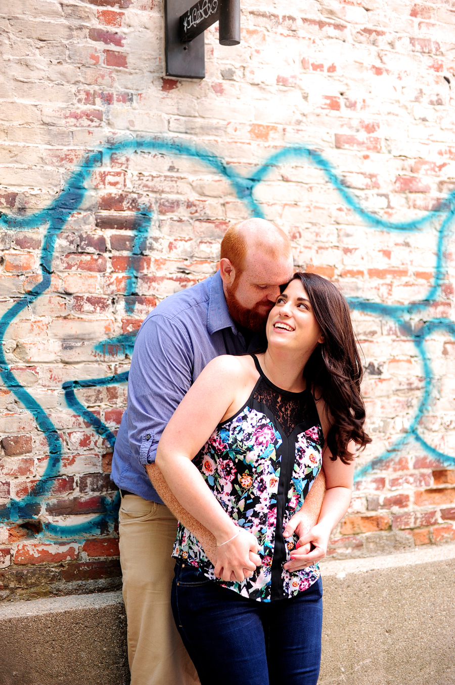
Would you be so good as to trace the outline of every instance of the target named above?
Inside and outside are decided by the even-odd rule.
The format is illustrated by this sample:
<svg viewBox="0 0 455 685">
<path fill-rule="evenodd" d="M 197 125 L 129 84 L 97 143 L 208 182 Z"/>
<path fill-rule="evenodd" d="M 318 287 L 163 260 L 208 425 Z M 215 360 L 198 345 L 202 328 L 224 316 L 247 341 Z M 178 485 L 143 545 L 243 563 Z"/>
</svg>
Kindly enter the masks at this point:
<svg viewBox="0 0 455 685">
<path fill-rule="evenodd" d="M 10 308 L 10 310 L 8 310 L 8 312 L 6 312 L 3 315 L 2 319 L 0 320 L 0 340 L 2 342 L 4 339 L 5 331 L 10 325 L 10 323 L 12 323 L 13 319 L 25 307 L 27 307 L 29 303 L 31 303 L 31 301 L 36 299 L 36 297 L 39 297 L 39 295 L 41 295 L 45 290 L 47 290 L 47 288 L 49 288 L 50 277 L 52 273 L 51 266 L 53 260 L 53 253 L 55 250 L 55 242 L 57 240 L 58 235 L 66 225 L 66 222 L 68 221 L 70 215 L 80 208 L 81 203 L 83 202 L 83 198 L 86 195 L 87 184 L 94 167 L 99 166 L 99 164 L 101 164 L 103 155 L 109 156 L 112 153 L 125 153 L 127 151 L 133 151 L 135 153 L 155 152 L 164 153 L 168 155 L 186 155 L 195 158 L 201 164 L 203 164 L 203 166 L 206 166 L 208 169 L 211 169 L 212 171 L 215 171 L 216 173 L 222 175 L 222 177 L 224 177 L 231 184 L 231 187 L 233 188 L 235 195 L 237 195 L 237 198 L 244 202 L 248 214 L 255 216 L 263 216 L 261 207 L 259 206 L 254 197 L 255 188 L 261 182 L 265 181 L 268 173 L 270 173 L 270 171 L 274 167 L 292 160 L 304 161 L 309 164 L 313 164 L 313 166 L 319 168 L 324 173 L 328 182 L 333 186 L 333 188 L 337 190 L 337 192 L 339 192 L 339 195 L 341 196 L 343 203 L 345 203 L 346 206 L 348 206 L 348 208 L 350 208 L 350 210 L 354 212 L 354 214 L 357 214 L 357 216 L 361 218 L 363 223 L 365 223 L 365 227 L 369 227 L 372 229 L 387 230 L 389 232 L 417 232 L 434 225 L 435 221 L 439 219 L 441 215 L 445 214 L 441 226 L 439 227 L 439 229 L 437 229 L 438 237 L 434 282 L 428 289 L 426 295 L 419 302 L 406 303 L 404 305 L 387 306 L 374 301 L 352 298 L 350 300 L 350 304 L 353 308 L 363 310 L 364 312 L 369 312 L 380 316 L 388 316 L 390 319 L 393 319 L 393 321 L 400 325 L 402 329 L 404 329 L 406 328 L 406 326 L 408 326 L 407 321 L 409 317 L 417 314 L 418 312 L 422 312 L 426 308 L 428 308 L 428 305 L 432 301 L 434 301 L 434 299 L 438 295 L 445 275 L 444 252 L 447 245 L 447 238 L 450 234 L 450 231 L 452 230 L 452 224 L 455 216 L 455 192 L 452 192 L 449 195 L 447 195 L 445 199 L 441 200 L 441 202 L 436 208 L 427 212 L 424 216 L 421 216 L 419 219 L 413 219 L 407 222 L 392 222 L 382 219 L 377 214 L 369 212 L 368 210 L 363 208 L 354 192 L 352 192 L 343 184 L 341 177 L 337 174 L 337 171 L 335 170 L 333 165 L 330 164 L 330 162 L 328 162 L 326 158 L 324 158 L 324 155 L 322 155 L 320 151 L 306 145 L 293 145 L 285 147 L 275 153 L 272 153 L 272 155 L 270 155 L 269 158 L 265 160 L 263 164 L 261 164 L 261 166 L 258 166 L 256 171 L 254 171 L 250 175 L 250 177 L 244 177 L 241 174 L 237 173 L 237 171 L 235 171 L 232 165 L 227 164 L 226 162 L 224 162 L 224 160 L 219 158 L 218 155 L 216 155 L 215 153 L 213 153 L 212 151 L 203 146 L 196 145 L 195 143 L 177 140 L 173 138 L 160 138 L 158 136 L 150 136 L 148 138 L 143 138 L 141 140 L 135 140 L 131 138 L 128 140 L 116 142 L 114 145 L 105 145 L 101 147 L 101 149 L 94 151 L 94 153 L 87 155 L 86 158 L 84 158 L 81 164 L 79 164 L 77 169 L 75 169 L 73 174 L 70 176 L 70 179 L 64 186 L 60 195 L 56 197 L 55 200 L 47 208 L 44 208 L 43 210 L 40 210 L 35 214 L 31 214 L 29 216 L 24 216 L 23 214 L 21 214 L 20 216 L 14 214 L 1 214 L 0 226 L 3 225 L 5 229 L 15 230 L 24 229 L 27 227 L 39 227 L 40 225 L 44 224 L 47 225 L 47 231 L 46 236 L 44 238 L 40 260 L 42 280 L 40 283 L 36 284 L 36 286 L 34 286 L 32 290 L 27 292 L 27 295 L 25 295 L 19 301 L 14 303 L 12 308 Z M 127 271 L 127 275 L 129 276 L 127 282 L 127 295 L 133 295 L 136 292 L 138 269 L 135 268 L 135 262 L 133 258 L 135 256 L 140 256 L 140 253 L 142 252 L 142 244 L 144 242 L 144 239 L 146 238 L 150 225 L 151 214 L 144 209 L 140 210 L 138 212 L 138 218 L 136 220 L 135 238 L 133 240 L 133 246 L 131 248 L 132 258 L 130 260 L 128 267 L 129 271 Z M 131 298 L 131 303 L 127 304 L 127 307 L 128 306 L 131 307 L 132 311 L 135 306 L 134 298 Z M 428 325 L 432 323 L 436 325 L 436 322 L 428 321 Z M 452 322 L 448 322 L 447 325 L 449 325 L 449 323 L 450 325 L 452 325 Z M 424 397 L 421 400 L 419 410 L 417 411 L 417 414 L 408 434 L 400 438 L 400 440 L 397 443 L 395 443 L 395 445 L 393 445 L 393 448 L 390 448 L 390 451 L 387 451 L 387 453 L 380 456 L 380 458 L 375 459 L 373 462 L 370 462 L 370 464 L 365 466 L 365 469 L 367 470 L 372 470 L 385 458 L 389 458 L 391 451 L 395 451 L 395 449 L 398 449 L 400 446 L 404 444 L 406 440 L 410 439 L 411 436 L 414 436 L 415 439 L 419 440 L 421 445 L 424 445 L 425 449 L 427 449 L 427 451 L 430 451 L 430 453 L 432 453 L 433 456 L 435 456 L 437 453 L 437 456 L 441 460 L 441 462 L 443 461 L 444 463 L 452 463 L 454 460 L 454 458 L 450 457 L 449 455 L 445 455 L 438 451 L 434 451 L 434 449 L 430 447 L 430 445 L 427 445 L 423 438 L 421 438 L 421 436 L 419 436 L 419 434 L 417 433 L 417 425 L 419 423 L 421 415 L 423 414 L 426 408 L 428 397 L 430 397 L 429 393 L 432 376 L 430 373 L 429 360 L 424 351 L 424 345 L 423 343 L 419 342 L 419 336 L 413 334 L 409 326 L 408 335 L 411 338 L 411 340 L 413 340 L 413 342 L 415 343 L 416 349 L 419 352 L 419 355 L 421 356 L 422 363 L 424 364 L 424 369 L 426 369 L 426 385 L 424 390 Z M 101 343 L 97 343 L 94 346 L 94 349 L 95 351 L 104 354 L 112 354 L 113 351 L 115 353 L 116 349 L 121 350 L 125 353 L 131 353 L 134 336 L 135 334 L 127 334 L 125 336 L 118 336 L 117 338 L 104 340 Z M 39 495 L 42 496 L 43 493 L 47 493 L 50 490 L 51 484 L 49 484 L 48 486 L 46 486 L 45 484 L 49 477 L 55 475 L 55 473 L 58 473 L 58 470 L 60 468 L 60 458 L 62 455 L 60 438 L 57 434 L 57 430 L 53 426 L 53 423 L 51 422 L 51 419 L 49 418 L 47 413 L 39 405 L 39 403 L 37 403 L 34 400 L 34 398 L 31 397 L 29 393 L 27 393 L 27 390 L 25 390 L 25 388 L 21 386 L 16 377 L 14 377 L 14 374 L 12 374 L 12 371 L 10 370 L 8 363 L 5 360 L 3 348 L 0 349 L 0 374 L 3 379 L 3 382 L 5 383 L 5 386 L 7 386 L 12 391 L 12 393 L 17 397 L 17 399 L 19 399 L 21 403 L 23 403 L 23 406 L 25 406 L 25 408 L 29 410 L 31 414 L 33 414 L 38 424 L 38 427 L 46 436 L 49 446 L 49 452 L 54 456 L 53 460 L 49 460 L 47 471 L 46 473 L 44 473 L 42 477 L 43 484 L 38 484 L 40 485 L 40 488 L 36 486 L 34 491 L 31 491 L 31 493 L 27 495 L 29 501 L 33 501 L 34 495 L 38 495 L 38 491 Z M 87 382 L 93 382 L 93 380 L 94 379 L 91 379 Z M 95 380 L 98 381 L 102 379 Z M 117 381 L 107 379 L 106 384 L 112 382 L 122 381 L 120 381 L 120 379 L 118 379 Z M 98 417 L 92 414 L 92 412 L 89 412 L 89 410 L 85 408 L 77 400 L 77 397 L 75 396 L 75 390 L 77 390 L 78 387 L 83 387 L 82 385 L 77 385 L 80 383 L 82 382 L 69 382 L 69 385 L 64 384 L 65 396 L 68 406 L 73 408 L 73 410 L 75 410 L 75 412 L 79 413 L 81 416 L 85 417 L 85 420 L 88 421 L 91 425 L 93 425 L 96 431 L 99 432 L 99 434 L 103 434 L 103 436 L 109 436 L 107 439 L 109 441 L 112 441 L 113 436 L 112 433 L 109 432 L 109 429 L 105 427 L 105 425 L 98 419 Z M 360 477 L 360 475 L 361 472 L 359 471 L 358 477 Z M 27 497 L 23 498 L 23 500 L 21 500 L 21 503 L 27 503 Z M 17 509 L 18 503 L 12 502 L 10 504 L 11 506 L 8 508 L 8 512 L 14 513 L 14 506 L 16 506 Z M 93 519 L 93 522 L 98 520 L 98 518 Z M 82 527 L 77 528 L 78 534 L 83 534 L 84 530 L 86 530 L 87 532 L 93 530 L 93 522 L 81 524 Z M 97 524 L 93 523 L 93 525 Z M 49 528 L 49 532 L 53 532 L 53 534 L 55 535 L 63 535 L 65 534 L 65 531 L 68 532 L 68 534 L 74 535 L 75 527 L 57 526 Z"/>
</svg>

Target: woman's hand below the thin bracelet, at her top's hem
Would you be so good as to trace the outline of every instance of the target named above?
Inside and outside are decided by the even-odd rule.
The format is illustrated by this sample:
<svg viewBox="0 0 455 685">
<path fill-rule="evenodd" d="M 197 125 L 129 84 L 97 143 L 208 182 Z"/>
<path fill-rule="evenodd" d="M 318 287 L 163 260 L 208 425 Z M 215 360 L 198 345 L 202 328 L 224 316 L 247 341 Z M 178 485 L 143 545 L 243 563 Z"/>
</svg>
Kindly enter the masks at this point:
<svg viewBox="0 0 455 685">
<path fill-rule="evenodd" d="M 217 540 L 215 575 L 222 580 L 241 583 L 261 565 L 257 538 L 248 530 L 238 527 L 229 542 Z"/>
</svg>

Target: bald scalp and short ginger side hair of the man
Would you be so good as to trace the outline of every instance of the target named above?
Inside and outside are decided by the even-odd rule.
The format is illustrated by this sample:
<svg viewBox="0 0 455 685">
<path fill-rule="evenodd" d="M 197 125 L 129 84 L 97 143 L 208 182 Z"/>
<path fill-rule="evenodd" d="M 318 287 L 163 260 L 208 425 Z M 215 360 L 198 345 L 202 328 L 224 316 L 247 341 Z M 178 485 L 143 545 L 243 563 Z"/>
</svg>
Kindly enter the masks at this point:
<svg viewBox="0 0 455 685">
<path fill-rule="evenodd" d="M 265 219 L 245 219 L 229 227 L 221 242 L 220 259 L 229 259 L 237 277 L 246 269 L 247 253 L 263 253 L 273 260 L 292 255 L 289 238 Z"/>
</svg>

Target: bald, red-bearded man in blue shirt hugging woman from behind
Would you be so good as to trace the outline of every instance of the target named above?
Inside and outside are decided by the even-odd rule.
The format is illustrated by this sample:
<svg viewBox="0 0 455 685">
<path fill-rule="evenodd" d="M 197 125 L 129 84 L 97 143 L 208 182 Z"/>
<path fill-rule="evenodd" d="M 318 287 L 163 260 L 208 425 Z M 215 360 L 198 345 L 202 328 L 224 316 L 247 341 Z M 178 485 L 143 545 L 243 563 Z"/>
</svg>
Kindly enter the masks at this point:
<svg viewBox="0 0 455 685">
<path fill-rule="evenodd" d="M 172 512 L 216 559 L 213 536 L 181 508 L 153 463 L 159 438 L 211 359 L 257 349 L 279 286 L 292 273 L 291 245 L 283 231 L 263 219 L 247 219 L 226 232 L 220 271 L 159 303 L 138 332 L 112 462 L 122 495 L 120 562 L 131 685 L 198 683 L 170 609 L 177 530 Z M 315 484 L 305 501 L 309 527 L 320 511 L 324 477 Z"/>
</svg>

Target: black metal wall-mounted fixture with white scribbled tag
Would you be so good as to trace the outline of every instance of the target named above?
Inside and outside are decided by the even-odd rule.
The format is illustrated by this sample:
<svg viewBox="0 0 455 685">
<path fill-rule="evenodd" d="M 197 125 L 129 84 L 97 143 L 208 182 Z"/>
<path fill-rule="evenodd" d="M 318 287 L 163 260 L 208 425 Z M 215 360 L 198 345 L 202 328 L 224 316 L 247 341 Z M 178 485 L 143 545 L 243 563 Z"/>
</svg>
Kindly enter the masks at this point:
<svg viewBox="0 0 455 685">
<path fill-rule="evenodd" d="M 185 10 L 187 2 L 164 2 L 166 75 L 203 79 L 205 29 L 219 21 L 220 44 L 239 45 L 240 0 L 199 0 Z"/>
</svg>

